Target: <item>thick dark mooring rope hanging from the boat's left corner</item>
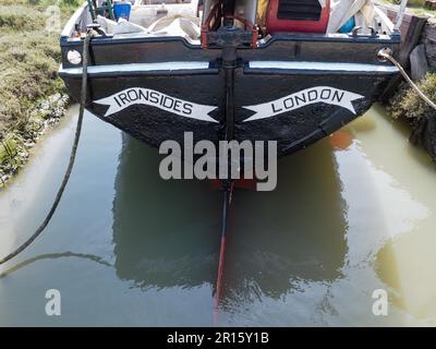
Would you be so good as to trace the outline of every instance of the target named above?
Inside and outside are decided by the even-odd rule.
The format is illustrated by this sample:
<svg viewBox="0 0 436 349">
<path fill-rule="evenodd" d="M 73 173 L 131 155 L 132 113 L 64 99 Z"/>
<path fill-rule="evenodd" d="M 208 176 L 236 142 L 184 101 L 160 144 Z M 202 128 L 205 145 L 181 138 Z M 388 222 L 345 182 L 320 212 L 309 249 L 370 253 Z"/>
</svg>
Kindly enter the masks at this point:
<svg viewBox="0 0 436 349">
<path fill-rule="evenodd" d="M 47 227 L 49 224 L 51 217 L 53 216 L 56 209 L 58 208 L 59 202 L 61 201 L 63 191 L 65 190 L 66 183 L 70 179 L 71 172 L 73 170 L 74 166 L 74 160 L 75 160 L 75 155 L 77 153 L 77 146 L 78 146 L 78 140 L 81 137 L 81 131 L 82 131 L 82 122 L 83 122 L 83 115 L 85 112 L 85 104 L 86 104 L 86 96 L 87 96 L 87 72 L 88 72 L 88 58 L 89 58 L 89 43 L 92 38 L 95 36 L 95 32 L 93 29 L 89 29 L 86 33 L 86 37 L 83 43 L 83 75 L 82 75 L 82 89 L 81 89 L 81 107 L 78 110 L 78 119 L 77 119 L 77 127 L 75 129 L 75 135 L 74 135 L 74 142 L 71 148 L 71 154 L 70 154 L 70 163 L 68 165 L 65 174 L 63 176 L 63 180 L 61 183 L 61 186 L 58 190 L 58 193 L 56 194 L 56 198 L 51 205 L 50 210 L 48 212 L 46 218 L 41 222 L 41 225 L 35 230 L 33 236 L 28 238 L 22 245 L 20 245 L 15 251 L 7 255 L 4 258 L 0 260 L 0 265 L 7 263 L 8 261 L 12 260 L 16 255 L 19 255 L 21 252 L 24 251 L 28 245 L 32 244 L 32 242 L 35 241 L 37 237 L 44 231 L 44 229 Z"/>
</svg>

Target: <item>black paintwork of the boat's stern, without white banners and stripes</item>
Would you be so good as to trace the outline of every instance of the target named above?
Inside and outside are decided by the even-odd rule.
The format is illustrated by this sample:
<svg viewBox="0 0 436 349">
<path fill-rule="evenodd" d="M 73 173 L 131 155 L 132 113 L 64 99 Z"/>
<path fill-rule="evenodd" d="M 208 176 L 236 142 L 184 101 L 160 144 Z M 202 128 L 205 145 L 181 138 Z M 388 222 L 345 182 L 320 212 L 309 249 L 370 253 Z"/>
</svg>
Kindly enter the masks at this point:
<svg viewBox="0 0 436 349">
<path fill-rule="evenodd" d="M 153 146 L 162 141 L 175 140 L 183 143 L 183 132 L 192 131 L 194 141 L 226 137 L 229 115 L 226 86 L 229 76 L 234 98 L 232 137 L 243 140 L 276 140 L 279 155 L 305 147 L 335 132 L 365 112 L 396 75 L 379 72 L 327 72 L 311 70 L 250 69 L 250 61 L 311 61 L 349 62 L 389 65 L 379 62 L 377 52 L 388 47 L 398 52 L 400 37 L 372 36 L 324 36 L 324 35 L 275 35 L 258 48 L 237 48 L 234 60 L 226 58 L 227 48 L 202 49 L 182 38 L 120 38 L 98 37 L 92 41 L 92 64 L 128 64 L 170 61 L 207 61 L 209 69 L 198 71 L 160 71 L 89 74 L 88 110 L 126 133 Z M 80 40 L 61 38 L 63 67 L 71 68 L 66 52 L 82 50 Z M 225 58 L 225 59 L 223 59 Z M 229 63 L 230 62 L 230 63 Z M 232 72 L 226 73 L 226 64 Z M 74 97 L 80 95 L 81 75 L 61 75 Z M 226 77 L 227 76 L 227 77 Z M 323 103 L 272 118 L 243 122 L 254 112 L 243 106 L 262 104 L 313 86 L 331 86 L 346 89 L 364 98 L 353 103 L 356 113 L 346 108 Z M 104 117 L 107 107 L 92 103 L 111 96 L 129 87 L 146 87 L 195 104 L 217 106 L 210 117 L 219 123 L 187 119 L 149 106 L 131 106 L 118 113 Z M 226 108 L 227 106 L 227 108 Z"/>
</svg>

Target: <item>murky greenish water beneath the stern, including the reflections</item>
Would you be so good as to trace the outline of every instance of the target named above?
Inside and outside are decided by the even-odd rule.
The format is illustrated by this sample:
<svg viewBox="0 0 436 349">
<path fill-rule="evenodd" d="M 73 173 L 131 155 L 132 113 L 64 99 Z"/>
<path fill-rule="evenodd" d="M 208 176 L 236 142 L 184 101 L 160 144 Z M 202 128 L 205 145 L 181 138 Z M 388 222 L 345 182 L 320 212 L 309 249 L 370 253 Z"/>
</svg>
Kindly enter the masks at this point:
<svg viewBox="0 0 436 349">
<path fill-rule="evenodd" d="M 36 228 L 68 161 L 76 109 L 0 193 L 0 255 Z M 239 190 L 220 325 L 436 325 L 436 166 L 375 106 L 279 161 L 274 192 Z M 213 325 L 221 195 L 166 182 L 157 152 L 85 118 L 44 234 L 0 267 L 0 325 Z M 61 316 L 45 293 L 61 292 Z M 375 316 L 375 289 L 389 294 Z"/>
</svg>

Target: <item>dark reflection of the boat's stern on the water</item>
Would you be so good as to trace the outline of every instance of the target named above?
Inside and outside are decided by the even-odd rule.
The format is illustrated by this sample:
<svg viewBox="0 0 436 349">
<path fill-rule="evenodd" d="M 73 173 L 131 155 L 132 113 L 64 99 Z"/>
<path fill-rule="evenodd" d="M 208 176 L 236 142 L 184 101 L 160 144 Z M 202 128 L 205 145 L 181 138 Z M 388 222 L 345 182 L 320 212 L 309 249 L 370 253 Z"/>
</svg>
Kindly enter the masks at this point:
<svg viewBox="0 0 436 349">
<path fill-rule="evenodd" d="M 113 201 L 117 275 L 143 289 L 213 288 L 221 195 L 208 181 L 161 180 L 159 159 L 155 149 L 123 137 Z M 347 253 L 340 193 L 328 141 L 281 159 L 275 191 L 235 190 L 223 308 L 280 298 L 293 280 L 340 278 Z"/>
</svg>

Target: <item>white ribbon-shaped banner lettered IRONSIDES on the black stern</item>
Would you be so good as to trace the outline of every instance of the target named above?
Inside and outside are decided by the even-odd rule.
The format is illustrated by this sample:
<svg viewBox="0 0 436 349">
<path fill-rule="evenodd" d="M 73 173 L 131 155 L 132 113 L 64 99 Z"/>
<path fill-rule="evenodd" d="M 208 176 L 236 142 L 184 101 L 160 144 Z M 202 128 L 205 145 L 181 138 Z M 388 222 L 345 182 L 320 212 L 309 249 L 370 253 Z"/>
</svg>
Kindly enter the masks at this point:
<svg viewBox="0 0 436 349">
<path fill-rule="evenodd" d="M 217 109 L 217 107 L 198 105 L 179 99 L 150 88 L 126 88 L 109 97 L 95 100 L 94 103 L 109 106 L 105 117 L 119 112 L 133 105 L 146 105 L 175 113 L 180 117 L 218 122 L 208 115 L 210 111 Z"/>
</svg>

